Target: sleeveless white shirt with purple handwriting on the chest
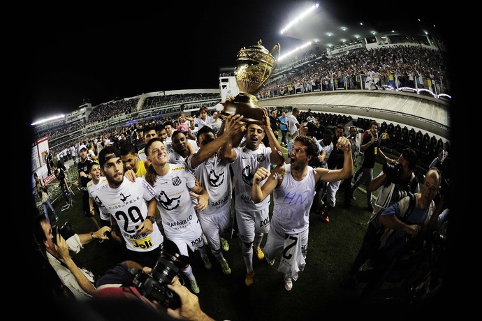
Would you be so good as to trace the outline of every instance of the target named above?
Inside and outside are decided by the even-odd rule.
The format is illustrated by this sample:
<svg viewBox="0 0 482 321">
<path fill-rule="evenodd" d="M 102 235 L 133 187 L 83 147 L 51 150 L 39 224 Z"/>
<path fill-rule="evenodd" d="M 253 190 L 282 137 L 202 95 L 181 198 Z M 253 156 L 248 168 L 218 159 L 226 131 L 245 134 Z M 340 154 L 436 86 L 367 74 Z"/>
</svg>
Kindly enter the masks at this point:
<svg viewBox="0 0 482 321">
<path fill-rule="evenodd" d="M 288 234 L 297 234 L 307 230 L 309 209 L 314 198 L 315 178 L 313 168 L 308 166 L 308 173 L 301 181 L 295 181 L 291 175 L 291 164 L 284 164 L 283 182 L 273 191 L 273 214 L 271 226 Z M 266 197 L 268 198 L 268 197 Z"/>
</svg>

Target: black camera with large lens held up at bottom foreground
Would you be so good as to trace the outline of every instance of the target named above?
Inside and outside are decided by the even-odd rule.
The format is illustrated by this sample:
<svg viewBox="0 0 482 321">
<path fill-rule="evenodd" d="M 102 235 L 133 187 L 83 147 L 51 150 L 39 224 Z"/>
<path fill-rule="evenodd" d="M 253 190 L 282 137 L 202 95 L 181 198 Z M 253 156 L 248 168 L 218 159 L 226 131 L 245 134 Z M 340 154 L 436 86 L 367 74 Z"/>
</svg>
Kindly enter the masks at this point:
<svg viewBox="0 0 482 321">
<path fill-rule="evenodd" d="M 173 278 L 185 265 L 180 258 L 177 245 L 173 241 L 164 239 L 161 255 L 156 260 L 151 273 L 140 271 L 134 276 L 133 284 L 136 285 L 140 294 L 149 300 L 158 301 L 166 308 L 179 308 L 180 297 L 168 288 L 168 284 L 173 283 Z M 182 281 L 180 276 L 178 278 Z"/>
</svg>

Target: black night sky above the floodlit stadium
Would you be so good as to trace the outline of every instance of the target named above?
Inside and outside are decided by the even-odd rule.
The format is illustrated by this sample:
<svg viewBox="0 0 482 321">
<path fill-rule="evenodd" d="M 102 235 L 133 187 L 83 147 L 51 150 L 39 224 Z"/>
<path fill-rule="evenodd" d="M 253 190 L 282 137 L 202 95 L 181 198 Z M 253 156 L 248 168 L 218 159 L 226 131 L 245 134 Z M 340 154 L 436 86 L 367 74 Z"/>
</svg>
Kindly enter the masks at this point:
<svg viewBox="0 0 482 321">
<path fill-rule="evenodd" d="M 233 67 L 243 46 L 258 39 L 270 50 L 301 40 L 279 34 L 290 10 L 314 1 L 198 1 L 163 8 L 68 10 L 34 18 L 27 40 L 26 104 L 32 121 L 152 91 L 218 88 L 220 67 Z M 320 1 L 340 19 L 395 19 L 364 1 Z M 229 3 L 223 5 L 221 3 Z M 380 3 L 381 5 L 381 3 Z M 419 7 L 420 8 L 420 7 Z M 419 10 L 422 15 L 427 10 Z M 25 79 L 22 79 L 25 84 Z"/>
</svg>

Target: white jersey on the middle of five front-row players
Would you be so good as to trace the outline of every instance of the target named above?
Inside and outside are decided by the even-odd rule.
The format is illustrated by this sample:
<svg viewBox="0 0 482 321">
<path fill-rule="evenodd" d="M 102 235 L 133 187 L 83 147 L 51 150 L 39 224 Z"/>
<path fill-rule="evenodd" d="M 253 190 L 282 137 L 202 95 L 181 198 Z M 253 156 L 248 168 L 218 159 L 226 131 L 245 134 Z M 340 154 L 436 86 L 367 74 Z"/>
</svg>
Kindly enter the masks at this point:
<svg viewBox="0 0 482 321">
<path fill-rule="evenodd" d="M 191 158 L 187 158 L 187 167 L 191 167 Z M 202 216 L 209 216 L 217 213 L 228 213 L 231 211 L 231 172 L 227 160 L 218 156 L 213 156 L 199 164 L 194 170 L 194 176 L 198 179 L 201 186 L 209 193 L 209 204 L 204 211 L 200 211 Z"/>
</svg>

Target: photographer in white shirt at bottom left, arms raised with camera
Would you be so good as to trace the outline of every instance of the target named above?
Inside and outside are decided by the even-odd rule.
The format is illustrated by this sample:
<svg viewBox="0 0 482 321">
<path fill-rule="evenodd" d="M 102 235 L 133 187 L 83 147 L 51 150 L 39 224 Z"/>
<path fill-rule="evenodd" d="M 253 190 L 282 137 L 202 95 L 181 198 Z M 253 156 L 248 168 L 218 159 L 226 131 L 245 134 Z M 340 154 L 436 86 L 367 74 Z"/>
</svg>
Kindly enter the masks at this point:
<svg viewBox="0 0 482 321">
<path fill-rule="evenodd" d="M 95 291 L 94 274 L 79 267 L 71 257 L 71 253 L 79 253 L 85 244 L 94 239 L 108 239 L 105 232 L 110 232 L 110 227 L 104 226 L 96 232 L 75 234 L 71 225 L 66 224 L 58 232 L 54 228 L 53 232 L 57 232 L 54 235 L 52 226 L 43 215 L 36 216 L 33 226 L 36 241 L 59 276 L 61 283 L 78 301 L 91 299 Z"/>
</svg>

